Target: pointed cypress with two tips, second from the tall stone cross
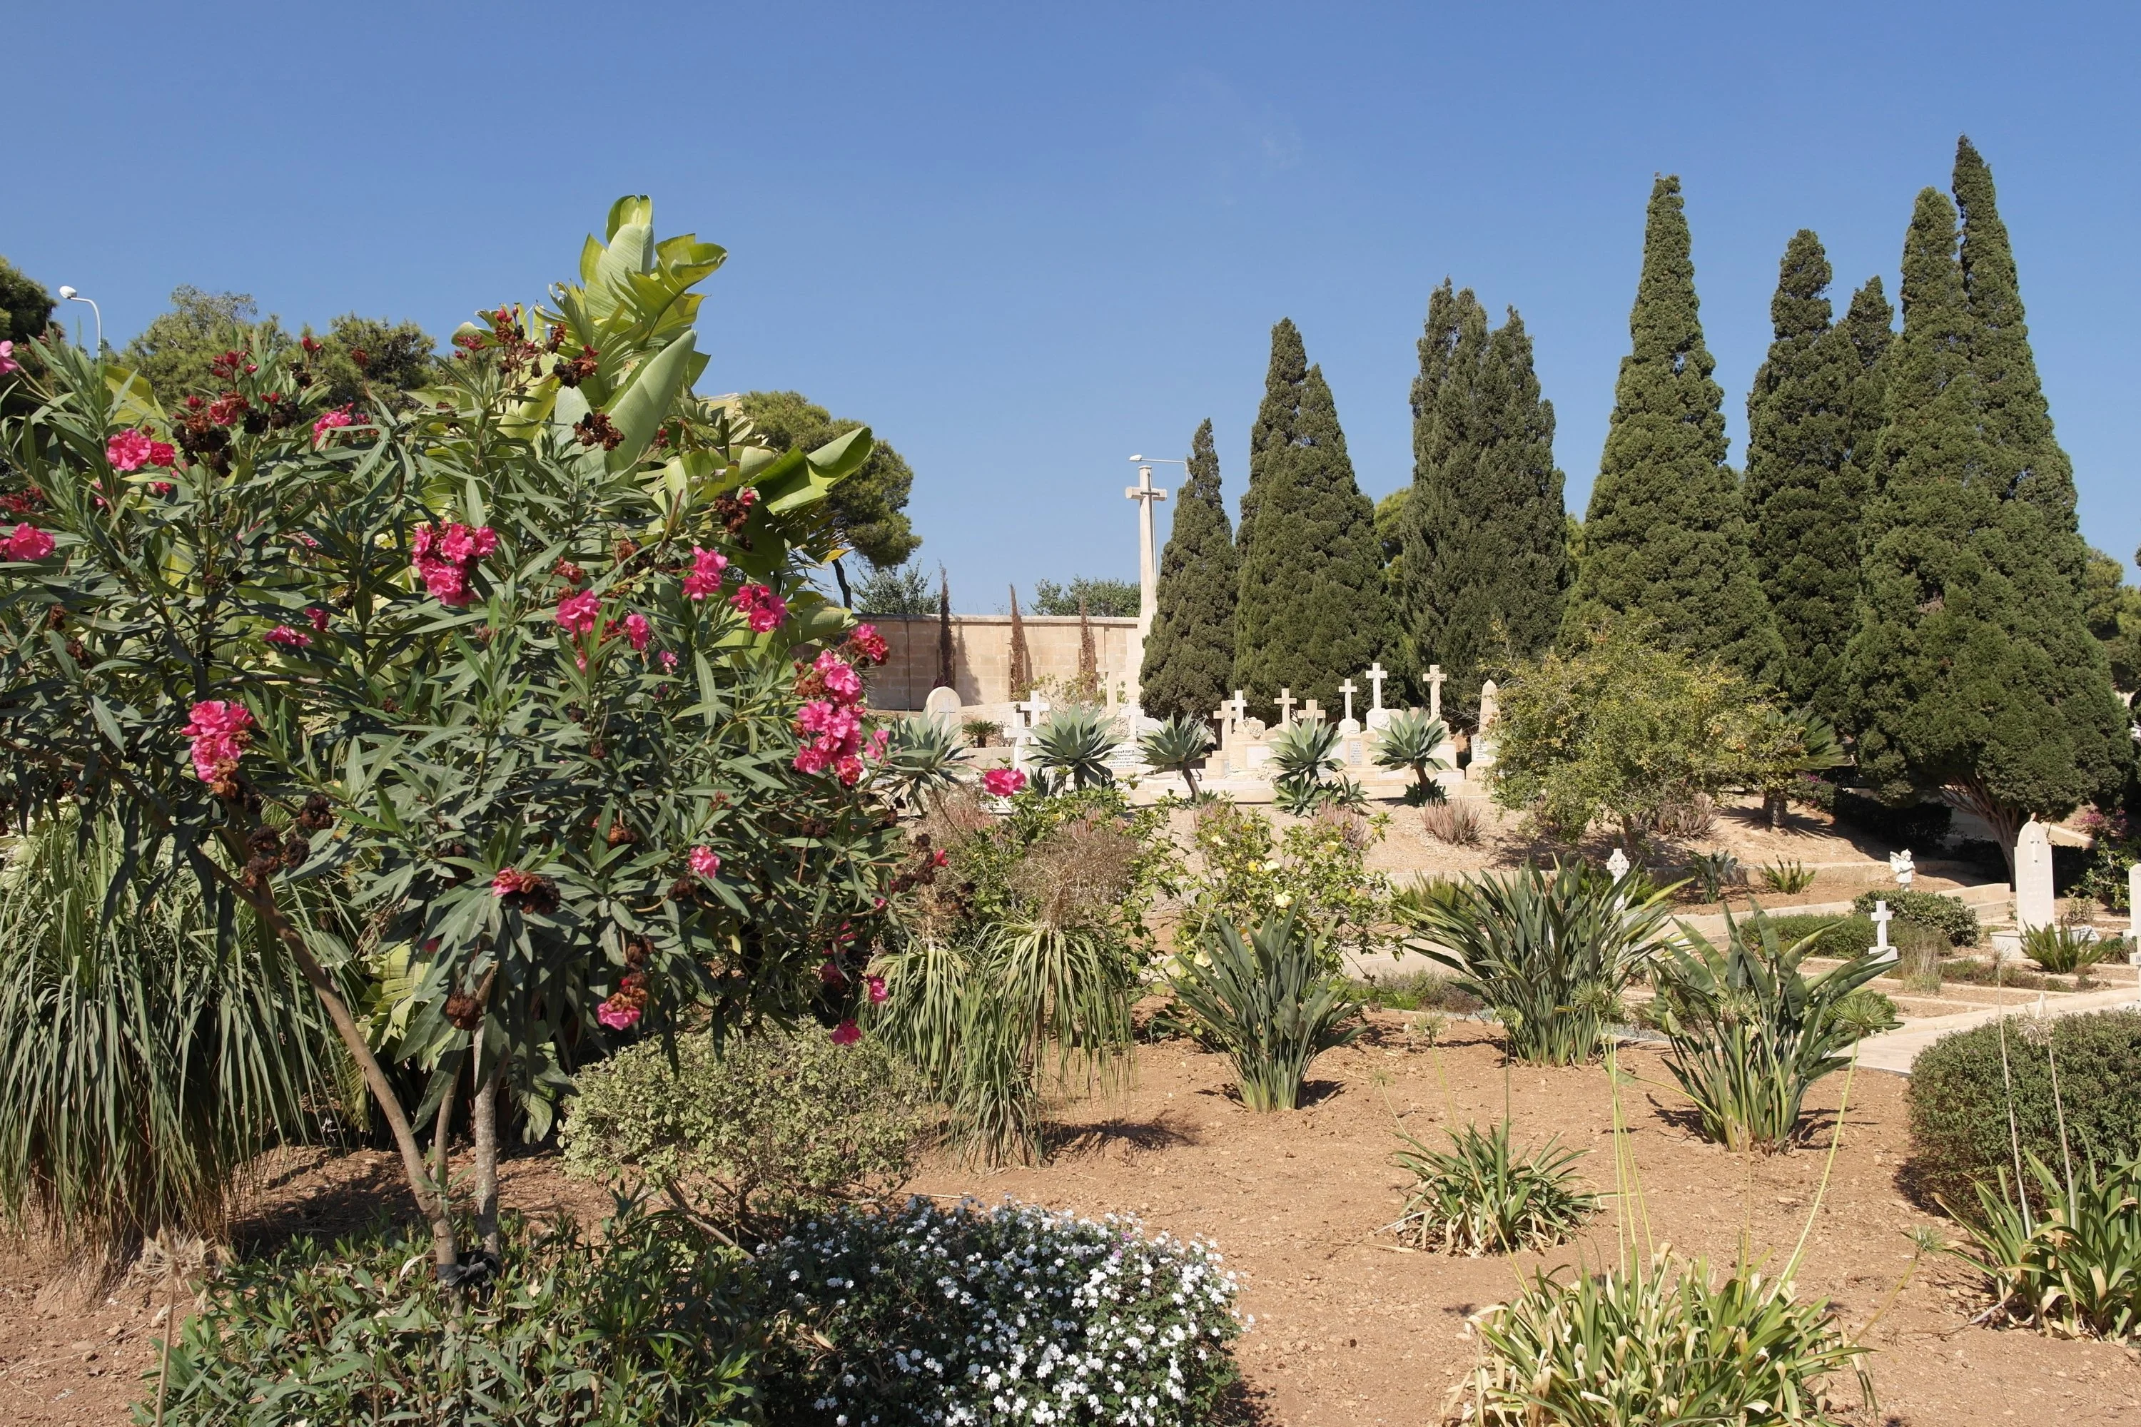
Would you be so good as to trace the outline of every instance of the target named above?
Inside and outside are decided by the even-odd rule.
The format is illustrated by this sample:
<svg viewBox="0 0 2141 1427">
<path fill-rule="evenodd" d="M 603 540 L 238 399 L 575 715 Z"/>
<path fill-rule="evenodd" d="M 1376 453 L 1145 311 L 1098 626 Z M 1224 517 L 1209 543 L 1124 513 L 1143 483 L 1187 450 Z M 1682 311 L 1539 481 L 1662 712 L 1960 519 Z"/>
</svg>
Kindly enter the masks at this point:
<svg viewBox="0 0 2141 1427">
<path fill-rule="evenodd" d="M 1259 710 L 1280 687 L 1334 708 L 1338 682 L 1387 653 L 1383 552 L 1332 389 L 1291 321 L 1272 327 L 1237 550 L 1235 687 Z"/>
</svg>

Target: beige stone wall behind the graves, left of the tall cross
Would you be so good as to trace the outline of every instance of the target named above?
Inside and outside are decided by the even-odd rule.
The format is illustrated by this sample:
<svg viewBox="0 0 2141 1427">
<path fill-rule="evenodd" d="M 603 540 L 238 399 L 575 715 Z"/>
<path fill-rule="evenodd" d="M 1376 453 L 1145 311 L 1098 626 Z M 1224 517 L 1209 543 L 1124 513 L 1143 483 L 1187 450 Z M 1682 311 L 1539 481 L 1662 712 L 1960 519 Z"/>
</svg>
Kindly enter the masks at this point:
<svg viewBox="0 0 2141 1427">
<path fill-rule="evenodd" d="M 938 665 L 938 616 L 869 616 L 869 623 L 884 635 L 891 650 L 884 668 L 869 676 L 871 708 L 921 710 L 923 700 L 936 685 Z M 1026 650 L 1034 659 L 1034 678 L 1056 678 L 1070 682 L 1077 678 L 1079 620 L 1075 614 L 1023 614 Z M 1135 618 L 1092 620 L 1092 644 L 1100 663 L 1100 678 L 1115 687 L 1115 697 L 1126 700 L 1137 689 L 1137 665 L 1143 659 L 1143 644 L 1137 638 Z M 959 704 L 996 706 L 1008 704 L 1023 691 L 1011 687 L 1011 616 L 1008 614 L 953 614 L 953 687 Z"/>
</svg>

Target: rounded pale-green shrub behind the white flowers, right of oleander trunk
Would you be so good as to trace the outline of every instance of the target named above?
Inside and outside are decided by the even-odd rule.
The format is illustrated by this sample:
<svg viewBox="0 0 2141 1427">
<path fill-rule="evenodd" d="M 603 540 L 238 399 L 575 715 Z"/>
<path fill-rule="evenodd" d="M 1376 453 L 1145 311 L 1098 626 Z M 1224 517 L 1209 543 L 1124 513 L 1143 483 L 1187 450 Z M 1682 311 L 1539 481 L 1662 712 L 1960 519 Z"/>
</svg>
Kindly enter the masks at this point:
<svg viewBox="0 0 2141 1427">
<path fill-rule="evenodd" d="M 580 1076 L 565 1170 L 625 1179 L 760 1226 L 901 1183 L 929 1127 L 921 1078 L 878 1038 L 647 1040 Z"/>
</svg>

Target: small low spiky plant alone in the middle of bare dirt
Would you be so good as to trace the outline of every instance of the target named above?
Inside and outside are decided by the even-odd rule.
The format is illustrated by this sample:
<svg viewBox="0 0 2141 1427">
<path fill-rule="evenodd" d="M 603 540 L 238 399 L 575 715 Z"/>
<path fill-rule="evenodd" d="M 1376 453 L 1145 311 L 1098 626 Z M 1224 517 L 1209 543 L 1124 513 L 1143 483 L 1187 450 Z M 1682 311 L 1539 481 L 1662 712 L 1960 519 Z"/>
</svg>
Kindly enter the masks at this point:
<svg viewBox="0 0 2141 1427">
<path fill-rule="evenodd" d="M 1597 1196 L 1576 1183 L 1580 1149 L 1548 1138 L 1518 1153 L 1509 1121 L 1492 1130 L 1449 1130 L 1449 1149 L 1428 1149 L 1398 1134 L 1396 1162 L 1413 1175 L 1398 1234 L 1447 1254 L 1516 1254 L 1569 1239 L 1597 1211 Z"/>
</svg>

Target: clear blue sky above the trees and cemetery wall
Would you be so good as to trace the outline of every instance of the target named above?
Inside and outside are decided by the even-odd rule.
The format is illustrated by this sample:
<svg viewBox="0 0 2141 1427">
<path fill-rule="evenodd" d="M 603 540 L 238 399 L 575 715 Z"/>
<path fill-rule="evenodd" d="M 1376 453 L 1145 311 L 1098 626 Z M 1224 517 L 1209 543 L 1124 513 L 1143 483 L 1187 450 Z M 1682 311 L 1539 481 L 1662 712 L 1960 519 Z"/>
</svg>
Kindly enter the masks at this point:
<svg viewBox="0 0 2141 1427">
<path fill-rule="evenodd" d="M 1786 240 L 1822 235 L 1839 310 L 1873 272 L 1893 293 L 1968 131 L 2083 531 L 2141 541 L 2135 6 L 17 0 L 6 34 L 0 252 L 98 297 L 107 338 L 180 282 L 443 338 L 651 193 L 662 231 L 730 250 L 702 389 L 871 421 L 972 610 L 1135 578 L 1126 456 L 1182 456 L 1208 415 L 1240 496 L 1280 317 L 1362 488 L 1411 479 L 1445 274 L 1522 310 L 1582 511 L 1655 171 L 1685 182 L 1738 462 Z"/>
</svg>

